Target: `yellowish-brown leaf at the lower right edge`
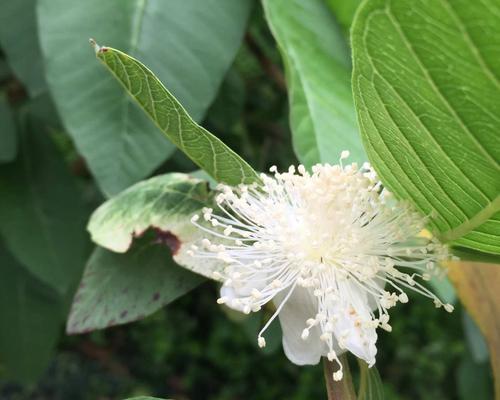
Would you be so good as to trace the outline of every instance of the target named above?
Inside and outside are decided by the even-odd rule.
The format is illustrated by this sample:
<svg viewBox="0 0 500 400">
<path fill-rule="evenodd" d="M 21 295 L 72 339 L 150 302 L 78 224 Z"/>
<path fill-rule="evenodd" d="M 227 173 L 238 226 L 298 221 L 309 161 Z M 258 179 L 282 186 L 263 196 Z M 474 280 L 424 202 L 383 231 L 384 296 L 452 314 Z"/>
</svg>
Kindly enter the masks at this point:
<svg viewBox="0 0 500 400">
<path fill-rule="evenodd" d="M 500 397 L 500 265 L 449 263 L 460 300 L 483 333 L 490 350 L 496 398 Z"/>
</svg>

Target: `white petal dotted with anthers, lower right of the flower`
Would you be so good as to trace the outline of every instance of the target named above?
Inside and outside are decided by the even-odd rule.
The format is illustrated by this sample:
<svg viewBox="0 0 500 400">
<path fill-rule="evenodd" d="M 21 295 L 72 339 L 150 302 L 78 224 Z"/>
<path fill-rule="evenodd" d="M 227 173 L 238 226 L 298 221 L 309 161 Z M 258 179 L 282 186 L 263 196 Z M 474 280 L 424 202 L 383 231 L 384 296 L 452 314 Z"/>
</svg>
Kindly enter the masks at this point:
<svg viewBox="0 0 500 400">
<path fill-rule="evenodd" d="M 333 325 L 333 333 L 347 350 L 371 366 L 377 354 L 376 328 L 358 323 L 359 320 L 371 320 L 368 295 L 354 283 L 344 282 L 342 286 L 342 292 L 350 296 L 347 298 L 344 295 L 340 302 L 328 305 L 330 313 L 338 318 Z M 348 335 L 344 336 L 346 332 Z"/>
</svg>

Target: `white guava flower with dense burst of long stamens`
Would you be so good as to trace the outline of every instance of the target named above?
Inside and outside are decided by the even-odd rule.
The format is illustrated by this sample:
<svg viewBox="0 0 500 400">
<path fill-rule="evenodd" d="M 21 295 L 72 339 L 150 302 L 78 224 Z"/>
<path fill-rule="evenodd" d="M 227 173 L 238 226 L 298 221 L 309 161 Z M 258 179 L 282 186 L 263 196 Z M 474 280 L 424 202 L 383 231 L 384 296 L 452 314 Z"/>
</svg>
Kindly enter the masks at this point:
<svg viewBox="0 0 500 400">
<path fill-rule="evenodd" d="M 369 164 L 304 166 L 262 174 L 262 184 L 220 185 L 219 207 L 193 223 L 207 233 L 190 254 L 224 264 L 220 304 L 250 313 L 273 301 L 283 348 L 295 364 L 336 360 L 348 350 L 370 366 L 376 328 L 387 331 L 388 309 L 406 303 L 411 289 L 443 304 L 417 282 L 429 280 L 448 257 L 435 239 L 419 237 L 425 218 L 391 198 Z"/>
</svg>

